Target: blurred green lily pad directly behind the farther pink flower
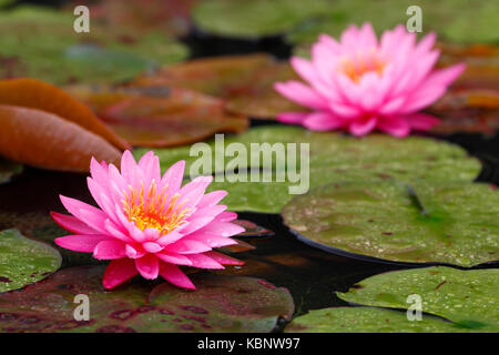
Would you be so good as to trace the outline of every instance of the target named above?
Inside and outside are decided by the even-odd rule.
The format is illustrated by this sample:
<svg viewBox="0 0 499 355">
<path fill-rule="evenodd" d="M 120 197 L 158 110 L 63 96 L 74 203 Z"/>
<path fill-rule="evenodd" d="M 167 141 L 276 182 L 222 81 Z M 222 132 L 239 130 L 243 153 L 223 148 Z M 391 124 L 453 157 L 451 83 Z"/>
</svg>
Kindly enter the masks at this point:
<svg viewBox="0 0 499 355">
<path fill-rule="evenodd" d="M 304 47 L 317 40 L 320 33 L 339 38 L 352 23 L 370 22 L 379 36 L 395 26 L 406 24 L 413 16 L 406 13 L 410 6 L 419 6 L 422 16 L 421 34 L 436 31 L 439 38 L 452 42 L 497 42 L 499 31 L 490 23 L 498 20 L 498 4 L 491 1 L 470 0 L 336 0 L 320 17 L 295 27 L 287 40 L 305 53 Z"/>
</svg>

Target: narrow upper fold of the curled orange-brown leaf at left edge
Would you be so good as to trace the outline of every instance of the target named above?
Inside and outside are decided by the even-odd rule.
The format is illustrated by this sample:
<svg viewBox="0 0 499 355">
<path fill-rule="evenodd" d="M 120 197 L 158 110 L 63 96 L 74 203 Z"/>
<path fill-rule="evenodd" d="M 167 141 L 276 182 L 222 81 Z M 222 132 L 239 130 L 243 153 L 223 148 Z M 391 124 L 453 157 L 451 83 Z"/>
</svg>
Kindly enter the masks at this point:
<svg viewBox="0 0 499 355">
<path fill-rule="evenodd" d="M 35 79 L 2 80 L 0 104 L 26 106 L 57 114 L 101 135 L 122 150 L 129 148 L 126 142 L 109 130 L 85 104 L 50 83 Z"/>
</svg>

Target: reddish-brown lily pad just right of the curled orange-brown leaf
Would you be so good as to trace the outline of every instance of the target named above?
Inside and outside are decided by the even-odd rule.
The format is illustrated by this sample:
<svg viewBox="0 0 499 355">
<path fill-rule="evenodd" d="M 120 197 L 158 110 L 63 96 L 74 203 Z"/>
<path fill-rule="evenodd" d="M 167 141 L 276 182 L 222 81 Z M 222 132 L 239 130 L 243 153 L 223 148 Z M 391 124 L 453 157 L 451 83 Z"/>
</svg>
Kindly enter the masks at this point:
<svg viewBox="0 0 499 355">
<path fill-rule="evenodd" d="M 69 90 L 132 145 L 181 145 L 248 125 L 247 118 L 227 113 L 221 100 L 185 89 Z"/>
</svg>

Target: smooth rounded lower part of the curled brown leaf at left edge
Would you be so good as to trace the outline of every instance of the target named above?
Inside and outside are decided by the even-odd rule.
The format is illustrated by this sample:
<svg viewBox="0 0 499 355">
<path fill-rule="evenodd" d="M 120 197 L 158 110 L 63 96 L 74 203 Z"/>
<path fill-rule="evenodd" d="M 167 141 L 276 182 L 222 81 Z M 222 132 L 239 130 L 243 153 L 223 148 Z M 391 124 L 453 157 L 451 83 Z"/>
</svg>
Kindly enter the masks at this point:
<svg viewBox="0 0 499 355">
<path fill-rule="evenodd" d="M 28 165 L 86 172 L 91 158 L 118 164 L 121 152 L 100 135 L 52 113 L 0 105 L 0 155 Z"/>
</svg>

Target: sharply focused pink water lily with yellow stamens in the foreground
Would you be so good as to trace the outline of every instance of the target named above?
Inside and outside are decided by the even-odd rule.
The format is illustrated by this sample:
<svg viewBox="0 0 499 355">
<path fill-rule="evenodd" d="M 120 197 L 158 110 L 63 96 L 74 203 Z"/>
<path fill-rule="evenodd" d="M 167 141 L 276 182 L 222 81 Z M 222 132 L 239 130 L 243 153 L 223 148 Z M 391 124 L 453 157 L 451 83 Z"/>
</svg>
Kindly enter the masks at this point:
<svg viewBox="0 0 499 355">
<path fill-rule="evenodd" d="M 184 166 L 180 161 L 161 178 L 160 161 L 153 152 L 139 163 L 124 152 L 121 173 L 113 164 L 99 164 L 93 159 L 88 185 L 100 209 L 60 196 L 72 216 L 52 212 L 52 217 L 74 235 L 58 237 L 55 243 L 111 260 L 103 278 L 105 288 L 141 274 L 149 280 L 161 275 L 176 286 L 195 290 L 176 265 L 242 265 L 213 251 L 237 244 L 231 236 L 244 231 L 230 223 L 237 215 L 217 204 L 226 192 L 205 194 L 212 176 L 196 178 L 181 187 Z"/>
</svg>

